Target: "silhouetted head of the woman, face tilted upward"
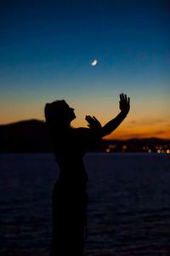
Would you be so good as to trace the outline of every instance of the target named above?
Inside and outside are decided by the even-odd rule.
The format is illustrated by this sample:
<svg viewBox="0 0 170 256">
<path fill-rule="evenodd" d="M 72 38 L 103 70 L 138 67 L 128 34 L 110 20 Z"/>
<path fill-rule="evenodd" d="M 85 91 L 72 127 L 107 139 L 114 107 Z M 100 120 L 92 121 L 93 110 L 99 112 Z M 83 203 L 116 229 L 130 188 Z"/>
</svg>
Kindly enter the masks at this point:
<svg viewBox="0 0 170 256">
<path fill-rule="evenodd" d="M 70 125 L 71 121 L 76 118 L 74 108 L 70 108 L 64 100 L 47 103 L 44 112 L 48 125 L 62 127 Z"/>
</svg>

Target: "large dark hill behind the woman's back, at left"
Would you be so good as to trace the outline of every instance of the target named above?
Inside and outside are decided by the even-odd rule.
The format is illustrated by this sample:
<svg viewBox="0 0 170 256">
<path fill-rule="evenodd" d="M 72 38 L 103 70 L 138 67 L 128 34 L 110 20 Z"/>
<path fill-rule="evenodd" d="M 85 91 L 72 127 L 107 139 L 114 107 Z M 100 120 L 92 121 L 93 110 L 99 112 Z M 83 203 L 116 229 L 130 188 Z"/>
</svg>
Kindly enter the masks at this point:
<svg viewBox="0 0 170 256">
<path fill-rule="evenodd" d="M 0 152 L 49 152 L 47 125 L 37 119 L 0 125 Z"/>
</svg>

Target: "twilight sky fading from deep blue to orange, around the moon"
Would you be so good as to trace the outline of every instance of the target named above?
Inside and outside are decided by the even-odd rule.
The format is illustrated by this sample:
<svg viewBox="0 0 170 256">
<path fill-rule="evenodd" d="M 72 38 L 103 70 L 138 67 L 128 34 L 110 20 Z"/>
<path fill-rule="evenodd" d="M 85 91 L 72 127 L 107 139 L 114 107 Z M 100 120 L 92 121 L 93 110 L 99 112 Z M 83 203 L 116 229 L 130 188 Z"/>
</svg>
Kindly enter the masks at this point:
<svg viewBox="0 0 170 256">
<path fill-rule="evenodd" d="M 65 99 L 72 125 L 104 125 L 123 92 L 131 111 L 112 138 L 170 138 L 169 13 L 164 0 L 1 1 L 0 124 L 44 119 Z"/>
</svg>

